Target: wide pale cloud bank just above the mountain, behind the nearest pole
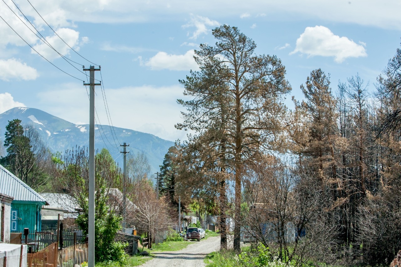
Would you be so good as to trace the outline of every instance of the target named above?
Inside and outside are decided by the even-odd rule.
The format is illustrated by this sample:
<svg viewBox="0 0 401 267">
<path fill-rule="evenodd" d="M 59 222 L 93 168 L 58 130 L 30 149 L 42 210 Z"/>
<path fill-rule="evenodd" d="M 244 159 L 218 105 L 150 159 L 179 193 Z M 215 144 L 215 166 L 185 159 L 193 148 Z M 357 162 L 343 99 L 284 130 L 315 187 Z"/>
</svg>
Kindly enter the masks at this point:
<svg viewBox="0 0 401 267">
<path fill-rule="evenodd" d="M 184 111 L 184 108 L 176 103 L 176 99 L 186 100 L 183 98 L 183 91 L 181 85 L 162 87 L 143 85 L 105 89 L 105 94 L 114 126 L 144 131 L 174 141 L 178 138 L 185 140 L 188 133 L 174 127 L 176 123 L 182 121 L 180 111 Z M 43 108 L 46 112 L 67 121 L 78 121 L 77 125 L 87 124 L 85 121 L 88 118 L 89 100 L 82 86 L 75 83 L 62 84 L 57 91 L 49 88 L 48 91 L 38 93 L 38 98 L 40 104 L 46 107 Z M 127 105 L 121 105 L 121 99 L 124 99 Z M 107 125 L 105 108 L 99 105 L 96 111 L 100 123 Z"/>
</svg>

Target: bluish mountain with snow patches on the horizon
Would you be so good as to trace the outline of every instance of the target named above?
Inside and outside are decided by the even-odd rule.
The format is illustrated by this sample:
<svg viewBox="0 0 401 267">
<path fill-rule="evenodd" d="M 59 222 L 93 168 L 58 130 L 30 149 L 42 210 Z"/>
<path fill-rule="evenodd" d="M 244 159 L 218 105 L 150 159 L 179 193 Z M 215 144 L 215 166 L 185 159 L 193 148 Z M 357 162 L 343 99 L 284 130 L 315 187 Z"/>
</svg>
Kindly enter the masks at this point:
<svg viewBox="0 0 401 267">
<path fill-rule="evenodd" d="M 65 150 L 75 149 L 75 146 L 89 146 L 89 124 L 76 125 L 40 109 L 26 107 L 14 107 L 0 114 L 1 142 L 4 142 L 6 125 L 12 119 L 20 119 L 22 123 L 34 125 L 52 152 L 59 151 L 63 154 Z M 130 144 L 127 148 L 130 154 L 144 152 L 152 166 L 152 172 L 160 169 L 159 165 L 162 165 L 168 148 L 174 145 L 173 142 L 152 134 L 109 125 L 95 125 L 95 149 L 109 149 L 111 156 L 117 158 L 116 162 L 122 166 L 123 157 L 122 153 L 119 153 L 122 147 L 117 140 Z"/>
</svg>

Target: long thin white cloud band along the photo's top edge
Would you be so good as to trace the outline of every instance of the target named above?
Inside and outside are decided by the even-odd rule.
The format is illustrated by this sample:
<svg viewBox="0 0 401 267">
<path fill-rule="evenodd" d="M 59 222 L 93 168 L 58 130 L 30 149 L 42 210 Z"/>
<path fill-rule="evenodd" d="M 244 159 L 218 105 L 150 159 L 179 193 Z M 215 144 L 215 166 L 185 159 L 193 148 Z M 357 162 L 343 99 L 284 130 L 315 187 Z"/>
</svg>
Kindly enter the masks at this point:
<svg viewBox="0 0 401 267">
<path fill-rule="evenodd" d="M 26 1 L 17 0 L 16 2 L 27 16 L 34 18 L 36 25 L 45 26 Z M 88 8 L 87 2 L 82 0 L 58 0 L 52 1 L 51 4 L 49 4 L 49 0 L 35 0 L 34 5 L 47 22 L 56 28 L 75 26 L 74 21 L 94 23 L 165 22 L 166 18 L 176 20 L 177 15 L 185 15 L 193 10 L 204 16 L 227 18 L 238 16 L 238 13 L 241 12 L 239 10 L 247 10 L 251 14 L 259 14 L 257 16 L 263 16 L 268 12 L 269 17 L 284 19 L 293 19 L 294 16 L 297 16 L 401 29 L 401 17 L 399 16 L 401 2 L 399 0 L 352 0 L 351 2 L 348 4 L 348 1 L 248 0 L 227 5 L 226 1 L 215 0 L 203 0 L 202 4 L 197 1 L 169 0 L 168 9 L 166 9 L 165 0 L 136 0 L 134 4 L 129 0 L 93 0 L 91 8 Z M 0 3 L 2 4 L 2 1 Z M 213 8 L 210 8 L 211 6 Z M 1 6 L 0 12 L 2 13 L 1 10 L 6 10 L 6 8 Z M 12 16 L 15 17 L 14 14 Z M 3 33 L 3 31 L 0 32 Z"/>
</svg>

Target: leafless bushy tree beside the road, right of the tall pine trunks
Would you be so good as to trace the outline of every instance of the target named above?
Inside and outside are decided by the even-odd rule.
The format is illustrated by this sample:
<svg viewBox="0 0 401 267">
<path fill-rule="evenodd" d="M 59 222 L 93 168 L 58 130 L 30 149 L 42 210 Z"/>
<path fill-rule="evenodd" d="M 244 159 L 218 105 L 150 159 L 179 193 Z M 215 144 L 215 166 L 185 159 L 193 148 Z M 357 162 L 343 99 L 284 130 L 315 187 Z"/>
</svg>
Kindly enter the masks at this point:
<svg viewBox="0 0 401 267">
<path fill-rule="evenodd" d="M 255 162 L 244 180 L 243 233 L 286 263 L 321 259 L 333 229 L 322 218 L 318 179 L 288 159 L 261 156 Z"/>
</svg>

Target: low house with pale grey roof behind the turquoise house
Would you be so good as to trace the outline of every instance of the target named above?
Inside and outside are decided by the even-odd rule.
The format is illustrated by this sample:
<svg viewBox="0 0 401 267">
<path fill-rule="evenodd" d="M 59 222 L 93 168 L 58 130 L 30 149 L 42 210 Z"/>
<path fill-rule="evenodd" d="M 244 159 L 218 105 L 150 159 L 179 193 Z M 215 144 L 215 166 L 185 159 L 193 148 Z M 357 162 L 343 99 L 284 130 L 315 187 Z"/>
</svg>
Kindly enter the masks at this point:
<svg viewBox="0 0 401 267">
<path fill-rule="evenodd" d="M 49 202 L 49 205 L 42 206 L 42 231 L 57 229 L 57 220 L 60 220 L 64 227 L 73 225 L 78 217 L 77 201 L 68 194 L 42 193 L 41 196 Z"/>
</svg>

